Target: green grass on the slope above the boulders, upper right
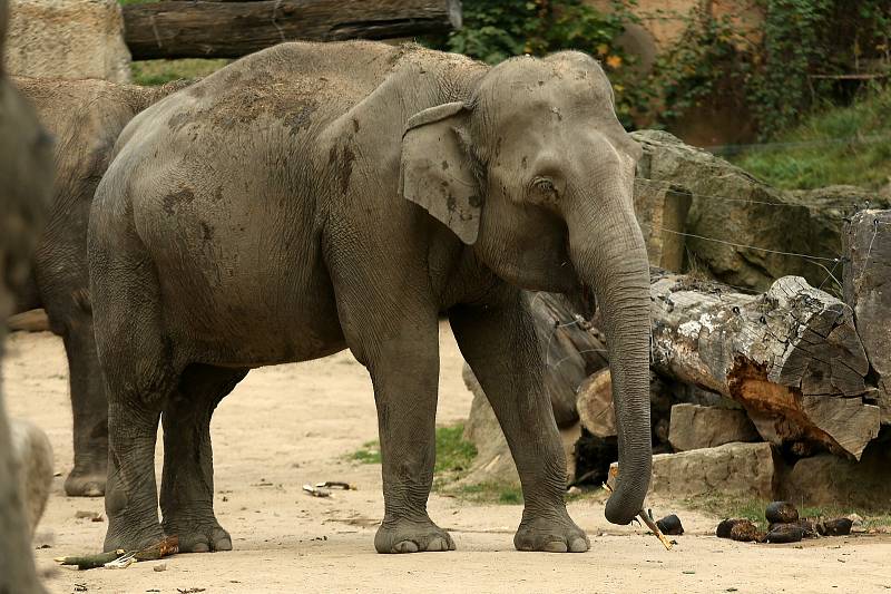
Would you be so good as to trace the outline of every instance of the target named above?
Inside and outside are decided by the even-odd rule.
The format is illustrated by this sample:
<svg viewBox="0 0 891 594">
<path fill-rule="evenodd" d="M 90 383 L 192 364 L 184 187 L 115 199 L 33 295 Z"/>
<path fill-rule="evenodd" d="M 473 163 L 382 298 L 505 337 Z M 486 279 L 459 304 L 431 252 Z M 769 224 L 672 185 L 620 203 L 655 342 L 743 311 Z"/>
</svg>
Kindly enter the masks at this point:
<svg viewBox="0 0 891 594">
<path fill-rule="evenodd" d="M 771 185 L 810 189 L 833 184 L 878 188 L 891 176 L 891 85 L 864 91 L 845 107 L 828 107 L 774 142 L 732 160 Z M 851 139 L 852 140 L 848 140 Z M 801 143 L 801 145 L 797 145 Z"/>
</svg>

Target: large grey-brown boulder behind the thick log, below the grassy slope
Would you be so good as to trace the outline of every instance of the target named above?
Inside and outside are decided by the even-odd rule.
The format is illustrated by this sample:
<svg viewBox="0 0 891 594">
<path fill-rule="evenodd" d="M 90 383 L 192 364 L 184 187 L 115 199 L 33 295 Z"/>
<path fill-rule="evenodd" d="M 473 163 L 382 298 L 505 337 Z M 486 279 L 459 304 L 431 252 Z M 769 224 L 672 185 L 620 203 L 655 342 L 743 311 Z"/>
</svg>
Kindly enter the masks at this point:
<svg viewBox="0 0 891 594">
<path fill-rule="evenodd" d="M 686 237 L 691 267 L 762 291 L 785 275 L 804 276 L 814 286 L 826 279 L 822 266 L 775 252 L 839 257 L 843 207 L 850 212 L 862 204 L 856 188 L 790 194 L 668 133 L 638 130 L 631 136 L 644 149 L 637 175 L 649 181 L 638 185 L 693 198 L 685 232 L 698 237 Z"/>
</svg>

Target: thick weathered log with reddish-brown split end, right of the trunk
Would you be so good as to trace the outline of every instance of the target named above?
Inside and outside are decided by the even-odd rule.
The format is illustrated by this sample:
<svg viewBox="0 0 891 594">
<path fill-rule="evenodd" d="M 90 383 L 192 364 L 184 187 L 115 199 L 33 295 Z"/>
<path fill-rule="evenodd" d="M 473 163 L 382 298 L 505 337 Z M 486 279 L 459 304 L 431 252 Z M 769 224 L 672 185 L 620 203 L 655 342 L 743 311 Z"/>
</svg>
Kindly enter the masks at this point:
<svg viewBox="0 0 891 594">
<path fill-rule="evenodd" d="M 838 299 L 800 276 L 747 295 L 665 273 L 650 298 L 656 371 L 737 400 L 768 441 L 860 459 L 878 435 L 869 362 Z"/>
</svg>

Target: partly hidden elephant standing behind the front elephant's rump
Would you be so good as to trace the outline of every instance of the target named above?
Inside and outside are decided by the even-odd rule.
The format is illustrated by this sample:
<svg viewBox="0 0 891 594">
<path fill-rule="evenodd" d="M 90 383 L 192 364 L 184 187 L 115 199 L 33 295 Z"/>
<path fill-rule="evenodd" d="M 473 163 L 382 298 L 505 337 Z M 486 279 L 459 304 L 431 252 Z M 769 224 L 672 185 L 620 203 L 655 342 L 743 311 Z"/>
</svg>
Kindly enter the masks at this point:
<svg viewBox="0 0 891 594">
<path fill-rule="evenodd" d="M 56 138 L 57 171 L 49 220 L 16 311 L 43 308 L 51 330 L 65 341 L 75 436 L 75 466 L 65 481 L 65 493 L 98 497 L 105 493 L 108 403 L 96 356 L 89 295 L 90 206 L 124 126 L 185 84 L 145 88 L 105 80 L 17 78 L 16 85 Z"/>
</svg>

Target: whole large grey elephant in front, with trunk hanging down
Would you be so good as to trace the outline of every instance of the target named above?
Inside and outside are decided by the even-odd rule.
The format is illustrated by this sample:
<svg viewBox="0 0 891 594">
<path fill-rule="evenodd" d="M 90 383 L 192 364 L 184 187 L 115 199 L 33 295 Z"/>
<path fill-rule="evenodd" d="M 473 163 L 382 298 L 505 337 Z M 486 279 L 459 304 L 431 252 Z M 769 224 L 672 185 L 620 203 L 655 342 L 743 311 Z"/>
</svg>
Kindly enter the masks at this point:
<svg viewBox="0 0 891 594">
<path fill-rule="evenodd" d="M 213 509 L 214 408 L 251 368 L 345 347 L 368 368 L 378 406 L 375 548 L 453 548 L 427 513 L 447 312 L 517 461 L 526 508 L 516 547 L 587 551 L 566 512 L 521 289 L 595 290 L 621 466 L 606 515 L 627 524 L 640 509 L 650 442 L 638 147 L 591 58 L 490 69 L 412 46 L 285 43 L 150 107 L 116 150 L 89 232 L 109 386 L 106 549 L 164 533 L 183 551 L 231 548 Z"/>
</svg>

